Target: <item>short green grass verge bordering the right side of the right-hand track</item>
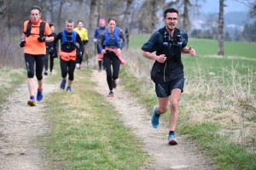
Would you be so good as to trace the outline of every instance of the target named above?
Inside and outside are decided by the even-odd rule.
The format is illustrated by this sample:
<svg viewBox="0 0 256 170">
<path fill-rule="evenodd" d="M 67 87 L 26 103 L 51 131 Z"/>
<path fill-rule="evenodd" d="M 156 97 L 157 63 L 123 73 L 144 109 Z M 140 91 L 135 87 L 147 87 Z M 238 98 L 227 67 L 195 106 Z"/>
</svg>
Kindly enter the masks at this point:
<svg viewBox="0 0 256 170">
<path fill-rule="evenodd" d="M 120 77 L 122 79 L 120 83 L 138 98 L 141 105 L 144 105 L 148 111 L 151 111 L 153 106 L 158 103 L 156 96 L 152 93 L 148 93 L 148 89 L 145 89 L 145 84 L 126 71 L 126 68 L 127 67 L 122 67 L 120 70 Z M 150 87 L 148 86 L 148 88 Z M 153 87 L 149 90 L 152 90 L 152 88 Z M 207 153 L 207 156 L 211 157 L 212 161 L 218 164 L 218 167 L 239 170 L 253 170 L 256 168 L 256 152 L 253 151 L 252 144 L 245 145 L 230 142 L 229 135 L 219 133 L 224 125 L 212 121 L 209 118 L 202 119 L 201 121 L 197 120 L 198 122 L 191 122 L 193 111 L 190 111 L 190 109 L 192 109 L 190 105 L 195 105 L 195 99 L 191 99 L 189 94 L 182 94 L 180 116 L 177 122 L 177 133 L 184 134 L 189 139 L 193 139 L 193 141 L 200 145 L 201 149 Z M 197 108 L 199 110 L 198 112 L 202 112 L 201 115 L 203 115 L 203 112 L 206 112 L 200 110 L 204 107 L 200 106 Z M 207 108 L 205 108 L 205 110 L 207 110 Z M 211 108 L 208 108 L 208 110 L 211 112 Z M 170 111 L 167 111 L 161 119 L 168 122 L 169 114 Z M 255 146 L 255 140 L 253 141 Z"/>
</svg>

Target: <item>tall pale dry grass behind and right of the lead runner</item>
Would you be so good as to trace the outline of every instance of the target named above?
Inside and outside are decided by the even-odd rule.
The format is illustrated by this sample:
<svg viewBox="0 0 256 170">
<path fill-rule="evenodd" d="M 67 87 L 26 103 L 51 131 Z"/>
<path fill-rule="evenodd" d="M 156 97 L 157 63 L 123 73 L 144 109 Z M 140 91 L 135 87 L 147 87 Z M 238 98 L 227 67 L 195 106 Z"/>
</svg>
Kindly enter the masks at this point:
<svg viewBox="0 0 256 170">
<path fill-rule="evenodd" d="M 124 55 L 127 70 L 143 81 L 142 86 L 148 94 L 154 95 L 154 84 L 150 79 L 154 61 L 143 58 L 140 49 L 129 49 Z M 186 71 L 184 65 L 186 81 L 180 100 L 182 114 L 189 117 L 189 123 L 218 122 L 222 130 L 217 133 L 230 136 L 230 143 L 241 144 L 246 149 L 250 146 L 250 151 L 256 152 L 255 75 L 253 68 L 247 68 L 247 75 L 241 75 L 236 66 L 223 66 L 223 75 L 216 76 L 204 71 L 206 65 L 198 62 L 193 71 Z"/>
</svg>

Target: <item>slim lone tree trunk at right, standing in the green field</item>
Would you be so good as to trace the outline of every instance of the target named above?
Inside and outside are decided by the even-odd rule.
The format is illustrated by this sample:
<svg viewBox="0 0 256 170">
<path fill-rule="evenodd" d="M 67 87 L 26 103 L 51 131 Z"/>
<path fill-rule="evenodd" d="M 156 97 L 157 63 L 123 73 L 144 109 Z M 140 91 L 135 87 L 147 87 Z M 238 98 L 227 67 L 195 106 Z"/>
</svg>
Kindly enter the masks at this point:
<svg viewBox="0 0 256 170">
<path fill-rule="evenodd" d="M 224 0 L 219 0 L 218 12 L 218 55 L 224 56 Z"/>
</svg>

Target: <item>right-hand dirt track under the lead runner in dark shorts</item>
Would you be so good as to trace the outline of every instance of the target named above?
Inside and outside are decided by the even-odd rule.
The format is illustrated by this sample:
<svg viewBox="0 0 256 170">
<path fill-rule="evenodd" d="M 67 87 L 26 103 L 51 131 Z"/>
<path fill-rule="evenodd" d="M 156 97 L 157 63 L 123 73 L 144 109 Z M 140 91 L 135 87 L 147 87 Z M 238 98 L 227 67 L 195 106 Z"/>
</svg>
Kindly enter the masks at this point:
<svg viewBox="0 0 256 170">
<path fill-rule="evenodd" d="M 97 83 L 96 91 L 106 97 L 108 95 L 106 71 L 100 73 L 93 71 L 92 81 Z M 108 101 L 119 111 L 125 125 L 131 127 L 133 132 L 143 139 L 145 143 L 143 150 L 154 156 L 155 161 L 148 165 L 149 169 L 216 169 L 195 144 L 191 144 L 182 136 L 177 135 L 177 145 L 167 144 L 167 125 L 161 123 L 159 128 L 153 128 L 150 122 L 151 113 L 138 105 L 137 99 L 132 98 L 124 87 L 118 84 L 113 94 L 114 97 L 108 98 Z"/>
</svg>

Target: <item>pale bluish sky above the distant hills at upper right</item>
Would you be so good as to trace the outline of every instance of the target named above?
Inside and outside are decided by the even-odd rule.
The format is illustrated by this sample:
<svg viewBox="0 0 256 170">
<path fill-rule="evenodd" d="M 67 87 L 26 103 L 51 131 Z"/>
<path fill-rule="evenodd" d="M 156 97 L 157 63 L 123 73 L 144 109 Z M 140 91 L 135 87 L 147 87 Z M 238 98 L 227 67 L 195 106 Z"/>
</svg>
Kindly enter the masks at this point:
<svg viewBox="0 0 256 170">
<path fill-rule="evenodd" d="M 240 0 L 241 2 L 245 2 Z M 253 0 L 250 0 L 252 2 Z M 232 11 L 249 11 L 249 8 L 243 3 L 237 3 L 236 0 L 225 0 L 224 4 L 228 5 L 224 8 L 224 13 Z M 218 0 L 206 0 L 206 3 L 202 3 L 202 11 L 210 13 L 218 13 L 219 1 Z"/>
</svg>

